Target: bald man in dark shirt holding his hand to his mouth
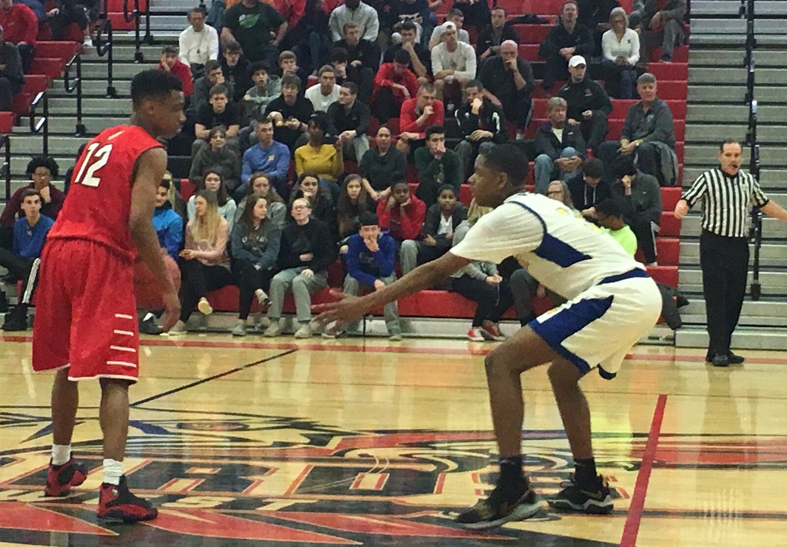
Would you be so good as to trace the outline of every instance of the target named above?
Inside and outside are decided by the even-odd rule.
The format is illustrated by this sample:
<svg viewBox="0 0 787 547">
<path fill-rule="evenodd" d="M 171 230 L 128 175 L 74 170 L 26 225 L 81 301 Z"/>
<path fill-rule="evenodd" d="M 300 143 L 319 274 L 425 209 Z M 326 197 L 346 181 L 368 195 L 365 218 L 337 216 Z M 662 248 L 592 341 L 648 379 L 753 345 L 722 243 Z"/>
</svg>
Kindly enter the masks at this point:
<svg viewBox="0 0 787 547">
<path fill-rule="evenodd" d="M 516 123 L 516 138 L 524 138 L 530 121 L 530 94 L 536 88 L 533 68 L 519 57 L 516 42 L 506 40 L 500 55 L 486 60 L 479 77 L 484 85 L 484 97 L 502 106 L 506 119 Z"/>
</svg>

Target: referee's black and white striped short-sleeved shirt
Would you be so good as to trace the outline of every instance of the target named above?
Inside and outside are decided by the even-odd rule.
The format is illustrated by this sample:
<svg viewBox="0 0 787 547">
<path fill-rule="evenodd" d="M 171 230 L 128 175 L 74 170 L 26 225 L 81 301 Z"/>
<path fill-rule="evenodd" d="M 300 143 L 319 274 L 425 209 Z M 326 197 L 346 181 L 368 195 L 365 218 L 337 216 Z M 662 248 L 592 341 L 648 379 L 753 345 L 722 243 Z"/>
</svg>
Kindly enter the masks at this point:
<svg viewBox="0 0 787 547">
<path fill-rule="evenodd" d="M 752 207 L 763 207 L 768 197 L 751 174 L 734 177 L 721 169 L 705 171 L 683 193 L 689 207 L 702 201 L 702 229 L 724 237 L 748 237 Z"/>
</svg>

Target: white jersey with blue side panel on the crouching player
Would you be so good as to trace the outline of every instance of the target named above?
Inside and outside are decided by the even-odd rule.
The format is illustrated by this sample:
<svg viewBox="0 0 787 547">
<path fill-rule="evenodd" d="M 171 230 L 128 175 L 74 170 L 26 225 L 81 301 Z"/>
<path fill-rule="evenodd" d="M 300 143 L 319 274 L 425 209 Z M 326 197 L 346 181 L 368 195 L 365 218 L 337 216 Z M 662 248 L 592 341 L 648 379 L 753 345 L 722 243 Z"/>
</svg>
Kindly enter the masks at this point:
<svg viewBox="0 0 787 547">
<path fill-rule="evenodd" d="M 559 201 L 519 193 L 478 219 L 453 255 L 499 263 L 514 256 L 547 288 L 573 299 L 600 281 L 645 268 Z M 639 277 L 639 276 L 637 276 Z"/>
</svg>

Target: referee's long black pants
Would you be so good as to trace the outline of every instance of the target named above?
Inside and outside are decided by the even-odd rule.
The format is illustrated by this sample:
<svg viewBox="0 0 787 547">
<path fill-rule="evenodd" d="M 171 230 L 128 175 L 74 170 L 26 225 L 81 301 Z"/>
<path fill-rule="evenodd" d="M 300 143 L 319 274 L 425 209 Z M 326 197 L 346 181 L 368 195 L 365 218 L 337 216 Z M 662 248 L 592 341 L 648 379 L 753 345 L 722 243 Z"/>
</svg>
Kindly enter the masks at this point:
<svg viewBox="0 0 787 547">
<path fill-rule="evenodd" d="M 705 314 L 708 318 L 708 357 L 730 352 L 730 340 L 741 316 L 748 273 L 748 241 L 703 231 L 700 266 Z"/>
</svg>

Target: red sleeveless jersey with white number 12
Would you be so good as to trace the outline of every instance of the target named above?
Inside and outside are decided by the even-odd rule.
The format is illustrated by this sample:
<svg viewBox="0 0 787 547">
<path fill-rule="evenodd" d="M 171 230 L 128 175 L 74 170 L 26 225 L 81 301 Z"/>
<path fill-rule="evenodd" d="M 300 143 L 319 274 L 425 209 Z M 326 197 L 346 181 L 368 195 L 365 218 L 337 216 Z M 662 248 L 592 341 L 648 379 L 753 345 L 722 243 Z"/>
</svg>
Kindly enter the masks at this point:
<svg viewBox="0 0 787 547">
<path fill-rule="evenodd" d="M 110 127 L 88 142 L 48 239 L 93 241 L 133 261 L 137 251 L 128 226 L 131 176 L 142 152 L 159 146 L 139 126 Z"/>
</svg>

